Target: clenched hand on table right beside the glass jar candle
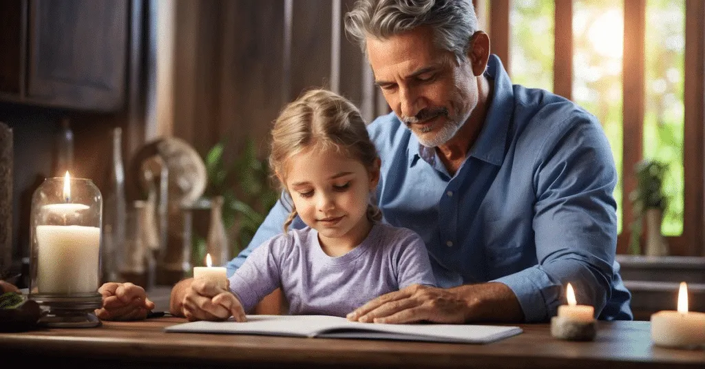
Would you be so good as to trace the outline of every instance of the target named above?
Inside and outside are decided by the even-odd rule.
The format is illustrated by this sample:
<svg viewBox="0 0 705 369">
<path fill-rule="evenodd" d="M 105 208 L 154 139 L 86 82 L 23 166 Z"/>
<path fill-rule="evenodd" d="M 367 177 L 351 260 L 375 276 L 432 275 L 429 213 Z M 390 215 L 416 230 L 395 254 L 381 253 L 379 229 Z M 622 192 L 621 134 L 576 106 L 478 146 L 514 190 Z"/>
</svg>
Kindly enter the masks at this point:
<svg viewBox="0 0 705 369">
<path fill-rule="evenodd" d="M 154 308 L 145 289 L 135 284 L 108 282 L 98 293 L 103 296 L 103 307 L 95 313 L 102 320 L 142 320 Z"/>
</svg>

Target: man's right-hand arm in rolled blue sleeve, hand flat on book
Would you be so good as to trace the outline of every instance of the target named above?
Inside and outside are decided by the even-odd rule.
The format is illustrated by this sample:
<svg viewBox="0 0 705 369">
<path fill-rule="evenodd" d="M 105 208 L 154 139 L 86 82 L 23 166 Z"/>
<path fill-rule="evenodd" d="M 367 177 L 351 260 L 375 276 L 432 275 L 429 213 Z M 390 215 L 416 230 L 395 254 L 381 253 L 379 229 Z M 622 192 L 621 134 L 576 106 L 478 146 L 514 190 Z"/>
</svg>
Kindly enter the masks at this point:
<svg viewBox="0 0 705 369">
<path fill-rule="evenodd" d="M 538 265 L 484 284 L 412 286 L 370 301 L 349 318 L 544 322 L 555 314 L 568 282 L 576 286 L 578 301 L 599 315 L 611 289 L 616 248 L 614 162 L 604 134 L 589 119 L 551 135 L 535 164 Z"/>
</svg>

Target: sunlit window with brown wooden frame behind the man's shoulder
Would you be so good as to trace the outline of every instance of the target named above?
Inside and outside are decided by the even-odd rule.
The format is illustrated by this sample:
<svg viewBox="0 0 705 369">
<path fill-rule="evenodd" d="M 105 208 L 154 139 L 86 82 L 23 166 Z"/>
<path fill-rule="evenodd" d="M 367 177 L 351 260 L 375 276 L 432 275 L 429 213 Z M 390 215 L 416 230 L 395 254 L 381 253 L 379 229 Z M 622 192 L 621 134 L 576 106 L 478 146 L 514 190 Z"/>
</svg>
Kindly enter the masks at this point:
<svg viewBox="0 0 705 369">
<path fill-rule="evenodd" d="M 513 80 L 580 104 L 603 124 L 620 181 L 618 253 L 627 253 L 642 159 L 668 164 L 661 231 L 672 255 L 703 255 L 705 2 L 476 0 Z"/>
</svg>

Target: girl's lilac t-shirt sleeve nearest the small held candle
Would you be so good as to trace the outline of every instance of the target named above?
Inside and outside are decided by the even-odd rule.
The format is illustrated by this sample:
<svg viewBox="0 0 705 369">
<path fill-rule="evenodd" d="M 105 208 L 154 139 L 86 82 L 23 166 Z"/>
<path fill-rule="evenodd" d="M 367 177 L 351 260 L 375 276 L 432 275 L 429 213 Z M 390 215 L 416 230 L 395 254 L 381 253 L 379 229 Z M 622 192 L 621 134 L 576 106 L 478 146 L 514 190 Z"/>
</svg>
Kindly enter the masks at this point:
<svg viewBox="0 0 705 369">
<path fill-rule="evenodd" d="M 243 304 L 245 312 L 250 312 L 259 301 L 271 294 L 281 284 L 278 250 L 290 240 L 286 234 L 270 238 L 262 243 L 243 262 L 243 265 L 228 278 L 230 290 Z"/>
</svg>

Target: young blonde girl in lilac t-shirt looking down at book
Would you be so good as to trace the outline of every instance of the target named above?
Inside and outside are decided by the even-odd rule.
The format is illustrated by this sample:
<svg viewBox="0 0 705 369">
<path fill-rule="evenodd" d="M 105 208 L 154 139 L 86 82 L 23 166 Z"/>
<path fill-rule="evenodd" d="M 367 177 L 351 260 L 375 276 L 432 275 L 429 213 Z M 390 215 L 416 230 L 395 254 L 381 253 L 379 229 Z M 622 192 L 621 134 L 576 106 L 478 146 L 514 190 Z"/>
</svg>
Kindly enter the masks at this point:
<svg viewBox="0 0 705 369">
<path fill-rule="evenodd" d="M 269 162 L 291 207 L 284 233 L 250 254 L 229 278 L 231 293 L 192 286 L 186 317 L 242 321 L 278 287 L 290 314 L 345 317 L 382 294 L 435 284 L 422 239 L 379 223 L 371 201 L 380 161 L 352 103 L 309 91 L 283 109 L 271 135 Z M 297 216 L 307 226 L 289 230 Z M 212 299 L 199 303 L 198 294 Z"/>
</svg>

